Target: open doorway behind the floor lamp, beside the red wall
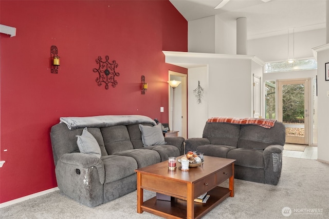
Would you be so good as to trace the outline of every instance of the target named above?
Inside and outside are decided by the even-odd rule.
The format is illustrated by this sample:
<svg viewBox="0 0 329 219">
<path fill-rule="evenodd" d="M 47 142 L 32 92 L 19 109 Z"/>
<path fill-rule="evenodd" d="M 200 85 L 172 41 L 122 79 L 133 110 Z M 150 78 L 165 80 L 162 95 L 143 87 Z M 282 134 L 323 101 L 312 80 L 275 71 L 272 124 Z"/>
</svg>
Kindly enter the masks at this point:
<svg viewBox="0 0 329 219">
<path fill-rule="evenodd" d="M 172 131 L 179 131 L 178 136 L 187 139 L 187 75 L 179 72 L 169 71 L 169 80 L 176 80 L 181 82 L 181 84 L 175 89 L 174 104 L 173 89 L 168 85 L 169 127 Z"/>
</svg>

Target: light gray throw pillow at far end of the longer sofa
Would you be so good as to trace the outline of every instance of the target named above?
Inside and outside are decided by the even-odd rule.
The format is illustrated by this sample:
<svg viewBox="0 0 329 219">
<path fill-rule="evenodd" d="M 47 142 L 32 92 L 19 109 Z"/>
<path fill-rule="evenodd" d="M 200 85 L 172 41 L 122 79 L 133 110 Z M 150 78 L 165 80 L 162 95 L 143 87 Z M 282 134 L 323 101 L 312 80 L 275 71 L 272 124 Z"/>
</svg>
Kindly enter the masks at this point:
<svg viewBox="0 0 329 219">
<path fill-rule="evenodd" d="M 152 145 L 165 145 L 165 137 L 162 134 L 162 125 L 159 123 L 156 126 L 144 126 L 139 124 L 139 129 L 142 133 L 142 142 L 144 147 Z"/>
</svg>

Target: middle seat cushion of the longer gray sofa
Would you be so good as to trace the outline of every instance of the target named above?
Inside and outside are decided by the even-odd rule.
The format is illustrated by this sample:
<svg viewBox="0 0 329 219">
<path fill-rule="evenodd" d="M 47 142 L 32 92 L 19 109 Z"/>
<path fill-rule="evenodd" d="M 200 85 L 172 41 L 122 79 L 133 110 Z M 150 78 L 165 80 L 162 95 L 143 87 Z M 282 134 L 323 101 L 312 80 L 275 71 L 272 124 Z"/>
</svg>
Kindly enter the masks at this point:
<svg viewBox="0 0 329 219">
<path fill-rule="evenodd" d="M 117 152 L 115 155 L 133 157 L 137 162 L 138 168 L 150 166 L 161 161 L 159 153 L 154 150 L 132 149 Z"/>
</svg>

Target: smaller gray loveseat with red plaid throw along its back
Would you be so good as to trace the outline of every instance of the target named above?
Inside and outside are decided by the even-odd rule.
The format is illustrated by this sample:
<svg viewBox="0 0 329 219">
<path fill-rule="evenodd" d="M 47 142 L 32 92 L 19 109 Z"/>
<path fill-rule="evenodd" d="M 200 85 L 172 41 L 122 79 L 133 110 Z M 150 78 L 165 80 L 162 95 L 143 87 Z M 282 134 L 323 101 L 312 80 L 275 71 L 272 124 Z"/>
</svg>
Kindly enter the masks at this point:
<svg viewBox="0 0 329 219">
<path fill-rule="evenodd" d="M 207 122 L 203 138 L 185 140 L 185 152 L 235 159 L 235 178 L 277 185 L 284 143 L 285 126 L 280 122 L 272 128 Z"/>
</svg>

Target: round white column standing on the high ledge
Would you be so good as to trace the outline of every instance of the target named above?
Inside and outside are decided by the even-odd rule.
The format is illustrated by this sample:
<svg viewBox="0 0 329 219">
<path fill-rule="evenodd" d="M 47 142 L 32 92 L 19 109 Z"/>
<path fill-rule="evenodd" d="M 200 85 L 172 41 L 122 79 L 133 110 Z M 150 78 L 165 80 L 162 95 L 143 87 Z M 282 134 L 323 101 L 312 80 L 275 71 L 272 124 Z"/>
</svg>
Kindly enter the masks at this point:
<svg viewBox="0 0 329 219">
<path fill-rule="evenodd" d="M 236 18 L 236 54 L 247 54 L 247 18 Z"/>
</svg>

